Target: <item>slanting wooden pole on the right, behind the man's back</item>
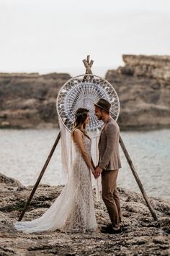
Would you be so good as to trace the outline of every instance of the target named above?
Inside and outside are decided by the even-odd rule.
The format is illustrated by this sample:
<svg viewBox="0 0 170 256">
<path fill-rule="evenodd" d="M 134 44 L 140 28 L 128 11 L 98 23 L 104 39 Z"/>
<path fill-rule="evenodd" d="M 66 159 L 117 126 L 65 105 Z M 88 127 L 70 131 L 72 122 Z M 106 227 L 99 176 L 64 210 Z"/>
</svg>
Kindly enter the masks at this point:
<svg viewBox="0 0 170 256">
<path fill-rule="evenodd" d="M 152 207 L 151 203 L 150 203 L 149 200 L 148 200 L 148 196 L 146 195 L 145 189 L 143 188 L 143 184 L 140 182 L 139 176 L 138 176 L 137 172 L 135 171 L 135 167 L 133 166 L 133 162 L 132 162 L 132 160 L 130 159 L 130 155 L 128 154 L 128 151 L 127 151 L 127 149 L 125 148 L 125 144 L 123 143 L 121 137 L 120 137 L 120 145 L 121 145 L 121 148 L 122 148 L 123 153 L 125 154 L 125 158 L 127 159 L 128 163 L 129 163 L 130 169 L 131 169 L 131 171 L 133 172 L 133 176 L 135 177 L 135 180 L 136 180 L 136 182 L 138 183 L 138 186 L 139 186 L 139 188 L 140 188 L 140 191 L 142 192 L 143 197 L 144 197 L 144 199 L 146 200 L 146 205 L 148 205 L 148 208 L 149 208 L 149 210 L 150 210 L 150 212 L 151 212 L 151 215 L 153 216 L 153 219 L 154 219 L 155 221 L 158 221 L 158 218 L 157 218 L 157 216 L 156 216 L 156 212 L 155 212 L 155 210 L 153 210 L 153 207 Z"/>
</svg>

